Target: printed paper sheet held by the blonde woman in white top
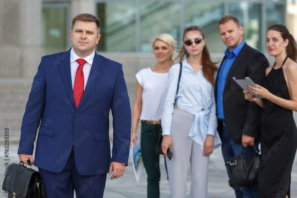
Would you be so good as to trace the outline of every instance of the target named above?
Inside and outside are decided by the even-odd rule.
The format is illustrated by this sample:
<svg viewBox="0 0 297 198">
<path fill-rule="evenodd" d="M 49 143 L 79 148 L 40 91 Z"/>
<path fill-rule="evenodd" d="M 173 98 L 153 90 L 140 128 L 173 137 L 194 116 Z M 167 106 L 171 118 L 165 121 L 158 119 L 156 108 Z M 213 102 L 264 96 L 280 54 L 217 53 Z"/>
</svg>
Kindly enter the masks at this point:
<svg viewBox="0 0 297 198">
<path fill-rule="evenodd" d="M 133 166 L 135 178 L 138 183 L 141 172 L 144 169 L 139 138 L 137 138 L 135 142 L 135 148 L 133 148 L 133 146 L 131 147 L 131 156 L 132 156 L 132 166 Z"/>
</svg>

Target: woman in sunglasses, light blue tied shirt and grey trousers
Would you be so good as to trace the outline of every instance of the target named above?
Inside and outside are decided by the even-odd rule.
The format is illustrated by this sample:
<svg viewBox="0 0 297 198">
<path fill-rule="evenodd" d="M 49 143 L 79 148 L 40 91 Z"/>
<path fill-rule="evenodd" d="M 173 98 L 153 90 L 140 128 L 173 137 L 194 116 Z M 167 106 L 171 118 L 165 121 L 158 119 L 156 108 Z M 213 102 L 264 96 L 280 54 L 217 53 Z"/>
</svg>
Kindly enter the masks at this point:
<svg viewBox="0 0 297 198">
<path fill-rule="evenodd" d="M 182 62 L 177 94 L 180 64 L 169 70 L 162 114 L 162 151 L 165 156 L 168 148 L 173 153 L 171 160 L 166 157 L 171 197 L 185 197 L 186 189 L 191 186 L 191 198 L 204 198 L 207 197 L 209 155 L 221 145 L 214 99 L 217 67 L 210 59 L 200 27 L 186 28 L 183 40 L 177 57 Z M 189 164 L 192 179 L 186 185 Z"/>
</svg>

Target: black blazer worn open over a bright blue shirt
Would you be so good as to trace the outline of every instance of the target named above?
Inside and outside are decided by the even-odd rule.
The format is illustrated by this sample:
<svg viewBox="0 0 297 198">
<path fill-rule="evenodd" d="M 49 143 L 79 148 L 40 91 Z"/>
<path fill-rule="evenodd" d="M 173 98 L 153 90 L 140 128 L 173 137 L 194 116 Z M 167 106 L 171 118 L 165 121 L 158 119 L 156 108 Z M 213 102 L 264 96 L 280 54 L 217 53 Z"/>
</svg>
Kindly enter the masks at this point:
<svg viewBox="0 0 297 198">
<path fill-rule="evenodd" d="M 226 56 L 222 63 L 225 58 Z M 222 63 L 219 69 L 221 69 Z M 228 72 L 223 91 L 224 121 L 231 139 L 237 144 L 241 144 L 242 134 L 258 137 L 262 108 L 255 102 L 244 99 L 242 88 L 232 77 L 250 77 L 255 83 L 263 85 L 265 69 L 268 66 L 269 63 L 264 54 L 245 43 Z M 214 85 L 216 104 L 218 76 Z M 218 122 L 218 132 L 221 135 L 222 125 L 219 120 Z"/>
</svg>

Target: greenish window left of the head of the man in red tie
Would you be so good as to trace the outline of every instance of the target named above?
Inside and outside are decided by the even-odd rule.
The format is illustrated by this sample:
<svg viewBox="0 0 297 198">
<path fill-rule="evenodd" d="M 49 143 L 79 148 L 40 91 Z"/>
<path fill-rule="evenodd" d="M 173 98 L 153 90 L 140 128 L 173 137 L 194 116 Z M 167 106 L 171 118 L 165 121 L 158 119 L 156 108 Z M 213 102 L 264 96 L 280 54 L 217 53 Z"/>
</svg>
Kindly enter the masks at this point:
<svg viewBox="0 0 297 198">
<path fill-rule="evenodd" d="M 35 34 L 42 31 L 42 56 L 67 50 L 66 34 L 68 33 L 67 39 L 70 36 L 68 31 L 66 33 L 66 14 L 65 6 L 43 8 L 42 25 L 35 31 Z"/>
</svg>

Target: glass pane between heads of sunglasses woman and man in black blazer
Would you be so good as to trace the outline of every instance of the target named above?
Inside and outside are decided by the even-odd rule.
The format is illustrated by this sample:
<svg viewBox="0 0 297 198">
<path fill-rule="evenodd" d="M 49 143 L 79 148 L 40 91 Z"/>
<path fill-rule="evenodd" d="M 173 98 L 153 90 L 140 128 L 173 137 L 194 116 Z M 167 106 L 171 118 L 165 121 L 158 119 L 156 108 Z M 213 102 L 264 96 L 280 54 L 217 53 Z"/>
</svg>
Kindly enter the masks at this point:
<svg viewBox="0 0 297 198">
<path fill-rule="evenodd" d="M 224 44 L 219 34 L 218 24 L 223 15 L 222 3 L 185 3 L 184 28 L 191 25 L 200 26 L 205 34 L 209 52 L 221 52 L 219 49 Z"/>
</svg>

